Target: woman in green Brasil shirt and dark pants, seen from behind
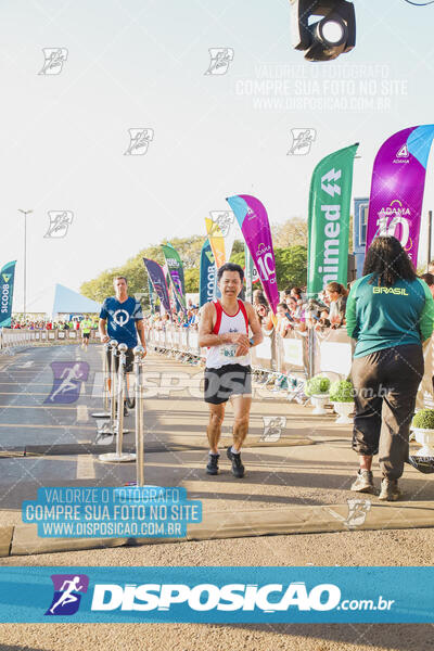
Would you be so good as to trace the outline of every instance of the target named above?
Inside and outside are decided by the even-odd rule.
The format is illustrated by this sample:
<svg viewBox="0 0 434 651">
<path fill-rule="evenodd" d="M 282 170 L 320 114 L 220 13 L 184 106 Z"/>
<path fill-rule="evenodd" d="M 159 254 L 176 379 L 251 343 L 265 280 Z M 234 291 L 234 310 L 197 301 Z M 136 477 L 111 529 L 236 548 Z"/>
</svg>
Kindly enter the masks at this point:
<svg viewBox="0 0 434 651">
<path fill-rule="evenodd" d="M 356 340 L 352 367 L 355 388 L 353 449 L 360 469 L 352 490 L 375 493 L 372 457 L 382 471 L 380 499 L 399 499 L 398 478 L 408 458 L 416 395 L 423 375 L 422 342 L 433 332 L 434 301 L 393 237 L 376 238 L 368 250 L 363 277 L 352 286 L 346 329 Z M 382 423 L 383 435 L 380 437 Z"/>
</svg>

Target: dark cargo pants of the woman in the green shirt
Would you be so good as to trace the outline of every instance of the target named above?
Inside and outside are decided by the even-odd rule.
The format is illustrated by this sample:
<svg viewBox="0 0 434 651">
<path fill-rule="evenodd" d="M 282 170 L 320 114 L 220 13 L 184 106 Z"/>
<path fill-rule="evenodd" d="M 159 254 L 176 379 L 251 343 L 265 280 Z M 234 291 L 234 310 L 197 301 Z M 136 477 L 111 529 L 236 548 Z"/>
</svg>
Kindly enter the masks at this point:
<svg viewBox="0 0 434 651">
<path fill-rule="evenodd" d="M 418 344 L 384 348 L 353 360 L 353 449 L 365 456 L 379 454 L 384 477 L 397 480 L 403 474 L 422 375 L 422 345 Z"/>
</svg>

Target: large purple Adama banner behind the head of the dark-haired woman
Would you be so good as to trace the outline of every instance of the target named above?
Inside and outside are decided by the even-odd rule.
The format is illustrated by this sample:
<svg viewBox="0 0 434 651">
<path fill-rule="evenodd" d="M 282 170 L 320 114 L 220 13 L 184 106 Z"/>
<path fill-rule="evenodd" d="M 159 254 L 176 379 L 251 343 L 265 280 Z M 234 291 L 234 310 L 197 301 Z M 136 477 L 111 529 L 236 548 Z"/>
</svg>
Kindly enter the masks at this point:
<svg viewBox="0 0 434 651">
<path fill-rule="evenodd" d="M 414 267 L 418 264 L 426 163 L 434 125 L 394 133 L 380 148 L 372 170 L 367 248 L 378 235 L 397 238 Z"/>
</svg>

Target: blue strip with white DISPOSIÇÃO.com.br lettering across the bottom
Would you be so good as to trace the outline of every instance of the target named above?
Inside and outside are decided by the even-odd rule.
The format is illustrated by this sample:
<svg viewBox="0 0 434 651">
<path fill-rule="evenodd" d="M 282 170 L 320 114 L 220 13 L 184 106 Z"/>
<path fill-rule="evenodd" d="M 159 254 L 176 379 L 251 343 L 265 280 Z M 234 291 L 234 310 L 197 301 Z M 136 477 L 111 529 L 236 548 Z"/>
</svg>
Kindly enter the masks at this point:
<svg viewBox="0 0 434 651">
<path fill-rule="evenodd" d="M 431 623 L 434 567 L 0 567 L 0 622 Z"/>
</svg>

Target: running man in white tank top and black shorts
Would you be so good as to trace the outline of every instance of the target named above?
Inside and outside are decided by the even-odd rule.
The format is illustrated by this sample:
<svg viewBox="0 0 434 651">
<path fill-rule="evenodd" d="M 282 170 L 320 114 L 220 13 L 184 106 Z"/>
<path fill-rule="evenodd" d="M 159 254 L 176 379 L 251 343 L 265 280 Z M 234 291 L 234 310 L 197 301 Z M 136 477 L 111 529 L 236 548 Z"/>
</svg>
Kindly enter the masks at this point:
<svg viewBox="0 0 434 651">
<path fill-rule="evenodd" d="M 232 398 L 234 422 L 233 445 L 227 455 L 235 477 L 244 476 L 241 446 L 248 431 L 252 404 L 250 348 L 263 341 L 256 312 L 250 303 L 238 298 L 244 272 L 239 265 L 226 263 L 217 272 L 221 298 L 206 303 L 201 310 L 199 345 L 208 348 L 205 369 L 205 403 L 209 406 L 207 435 L 209 457 L 207 474 L 218 474 L 218 442 L 225 407 Z M 250 337 L 248 329 L 252 331 Z"/>
</svg>

